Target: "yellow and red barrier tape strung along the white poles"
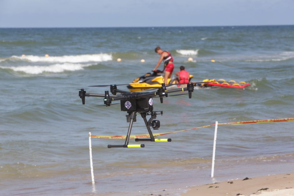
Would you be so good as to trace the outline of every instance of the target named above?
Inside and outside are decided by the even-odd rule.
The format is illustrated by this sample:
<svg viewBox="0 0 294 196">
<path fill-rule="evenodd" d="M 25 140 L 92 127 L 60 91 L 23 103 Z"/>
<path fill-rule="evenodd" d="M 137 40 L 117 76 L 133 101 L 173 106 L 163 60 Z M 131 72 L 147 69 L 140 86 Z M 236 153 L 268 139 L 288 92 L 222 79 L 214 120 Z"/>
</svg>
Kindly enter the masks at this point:
<svg viewBox="0 0 294 196">
<path fill-rule="evenodd" d="M 279 118 L 279 119 L 268 119 L 268 120 L 251 120 L 251 121 L 241 121 L 241 122 L 233 122 L 233 123 L 218 123 L 218 125 L 240 125 L 240 124 L 256 124 L 256 123 L 277 123 L 277 122 L 288 122 L 288 121 L 294 121 L 294 118 Z M 212 127 L 215 126 L 215 124 L 206 125 L 202 127 L 196 127 L 196 128 L 189 128 L 185 130 L 180 131 L 173 131 L 173 132 L 166 132 L 166 133 L 153 133 L 153 136 L 160 136 L 160 135 L 166 135 L 170 133 L 179 133 L 183 131 L 190 131 L 194 129 L 199 128 L 205 128 L 205 127 Z M 103 135 L 91 135 L 92 138 L 102 138 L 102 139 L 125 139 L 125 135 L 112 135 L 112 136 L 103 136 Z M 130 139 L 135 138 L 150 138 L 149 134 L 141 134 L 141 135 L 130 135 Z"/>
</svg>

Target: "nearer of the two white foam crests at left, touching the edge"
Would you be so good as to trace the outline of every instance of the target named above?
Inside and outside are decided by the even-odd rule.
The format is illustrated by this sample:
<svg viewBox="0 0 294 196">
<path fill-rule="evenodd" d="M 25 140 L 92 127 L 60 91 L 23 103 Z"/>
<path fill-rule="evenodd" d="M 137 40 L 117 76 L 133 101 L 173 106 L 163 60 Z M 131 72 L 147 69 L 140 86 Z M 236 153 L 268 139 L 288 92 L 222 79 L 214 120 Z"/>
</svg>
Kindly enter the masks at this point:
<svg viewBox="0 0 294 196">
<path fill-rule="evenodd" d="M 51 73 L 62 73 L 64 71 L 77 71 L 84 69 L 84 67 L 88 67 L 92 64 L 79 64 L 79 63 L 63 63 L 63 64 L 53 64 L 49 66 L 18 66 L 18 67 L 3 67 L 3 69 L 12 69 L 15 72 L 24 72 L 27 74 L 41 74 L 44 72 L 51 72 Z"/>
</svg>

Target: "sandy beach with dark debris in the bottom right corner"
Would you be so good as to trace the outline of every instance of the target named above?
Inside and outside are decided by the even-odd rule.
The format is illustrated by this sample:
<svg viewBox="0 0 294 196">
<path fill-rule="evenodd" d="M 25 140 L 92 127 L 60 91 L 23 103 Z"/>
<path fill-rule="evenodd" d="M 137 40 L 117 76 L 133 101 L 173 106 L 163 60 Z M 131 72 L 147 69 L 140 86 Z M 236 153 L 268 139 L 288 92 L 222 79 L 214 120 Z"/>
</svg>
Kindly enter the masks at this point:
<svg viewBox="0 0 294 196">
<path fill-rule="evenodd" d="M 294 195 L 294 173 L 268 175 L 256 178 L 244 177 L 220 183 L 191 187 L 183 196 L 289 196 Z"/>
</svg>

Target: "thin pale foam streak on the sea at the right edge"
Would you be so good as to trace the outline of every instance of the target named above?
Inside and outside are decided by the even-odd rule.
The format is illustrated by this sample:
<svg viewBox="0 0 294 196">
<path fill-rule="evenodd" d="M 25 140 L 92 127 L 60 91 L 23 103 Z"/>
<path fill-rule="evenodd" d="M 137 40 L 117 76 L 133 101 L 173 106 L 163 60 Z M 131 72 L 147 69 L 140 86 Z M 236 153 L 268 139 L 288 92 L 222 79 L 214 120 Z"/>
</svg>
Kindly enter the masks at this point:
<svg viewBox="0 0 294 196">
<path fill-rule="evenodd" d="M 253 59 L 245 60 L 246 62 L 270 62 L 270 61 L 286 61 L 294 58 L 294 52 L 282 52 L 274 55 L 264 55 Z"/>
</svg>

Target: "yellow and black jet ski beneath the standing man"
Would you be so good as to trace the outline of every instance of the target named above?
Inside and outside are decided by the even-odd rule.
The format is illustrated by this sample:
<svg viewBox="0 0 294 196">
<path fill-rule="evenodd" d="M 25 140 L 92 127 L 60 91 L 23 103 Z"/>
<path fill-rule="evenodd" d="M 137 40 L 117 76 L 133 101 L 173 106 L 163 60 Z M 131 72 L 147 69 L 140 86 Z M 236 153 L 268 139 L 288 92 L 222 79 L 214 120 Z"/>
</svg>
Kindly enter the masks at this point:
<svg viewBox="0 0 294 196">
<path fill-rule="evenodd" d="M 160 70 L 152 71 L 151 73 L 146 73 L 143 76 L 135 78 L 127 88 L 130 91 L 140 91 L 140 90 L 147 90 L 148 88 L 157 88 L 161 87 L 162 83 L 164 82 L 164 76 L 160 73 L 163 73 Z M 193 75 L 190 75 L 190 80 L 193 78 Z M 189 80 L 189 81 L 190 81 Z M 178 83 L 177 77 L 173 76 L 172 78 L 167 79 L 168 84 L 175 84 Z"/>
</svg>

